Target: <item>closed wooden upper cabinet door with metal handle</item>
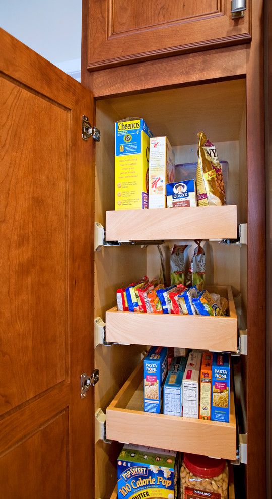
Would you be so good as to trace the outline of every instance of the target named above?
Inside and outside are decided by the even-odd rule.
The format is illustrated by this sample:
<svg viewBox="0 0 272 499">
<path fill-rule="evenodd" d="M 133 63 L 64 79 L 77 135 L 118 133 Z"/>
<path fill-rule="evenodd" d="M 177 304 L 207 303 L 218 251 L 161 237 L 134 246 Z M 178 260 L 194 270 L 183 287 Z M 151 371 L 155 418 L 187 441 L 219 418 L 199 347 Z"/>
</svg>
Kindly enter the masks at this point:
<svg viewBox="0 0 272 499">
<path fill-rule="evenodd" d="M 88 37 L 91 71 L 251 39 L 250 0 L 244 17 L 236 20 L 231 0 L 88 0 L 88 4 L 83 36 Z"/>
</svg>

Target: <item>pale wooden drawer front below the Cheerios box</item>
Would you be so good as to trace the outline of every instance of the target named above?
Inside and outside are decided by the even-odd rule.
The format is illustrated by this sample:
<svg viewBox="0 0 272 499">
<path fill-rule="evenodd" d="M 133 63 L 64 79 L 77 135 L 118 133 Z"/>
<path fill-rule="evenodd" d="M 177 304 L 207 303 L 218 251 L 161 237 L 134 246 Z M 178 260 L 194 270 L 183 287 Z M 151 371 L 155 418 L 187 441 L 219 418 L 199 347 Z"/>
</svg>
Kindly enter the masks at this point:
<svg viewBox="0 0 272 499">
<path fill-rule="evenodd" d="M 235 239 L 236 237 L 236 205 L 106 212 L 106 241 Z"/>
</svg>

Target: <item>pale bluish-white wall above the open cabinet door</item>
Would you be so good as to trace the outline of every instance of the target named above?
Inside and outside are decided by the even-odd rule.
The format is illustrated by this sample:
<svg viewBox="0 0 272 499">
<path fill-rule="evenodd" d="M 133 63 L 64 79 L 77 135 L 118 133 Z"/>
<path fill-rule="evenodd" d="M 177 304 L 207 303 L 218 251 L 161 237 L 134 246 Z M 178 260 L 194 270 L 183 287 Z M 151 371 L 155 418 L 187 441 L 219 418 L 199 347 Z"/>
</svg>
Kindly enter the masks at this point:
<svg viewBox="0 0 272 499">
<path fill-rule="evenodd" d="M 81 0 L 0 0 L 0 27 L 78 79 Z"/>
</svg>

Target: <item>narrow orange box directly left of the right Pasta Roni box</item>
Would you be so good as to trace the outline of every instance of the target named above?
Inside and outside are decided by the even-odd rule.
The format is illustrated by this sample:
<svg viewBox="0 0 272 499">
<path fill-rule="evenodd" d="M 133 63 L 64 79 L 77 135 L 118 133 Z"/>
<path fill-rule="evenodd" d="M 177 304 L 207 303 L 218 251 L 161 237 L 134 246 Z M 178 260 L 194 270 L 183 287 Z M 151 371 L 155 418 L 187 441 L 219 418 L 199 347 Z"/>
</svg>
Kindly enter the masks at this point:
<svg viewBox="0 0 272 499">
<path fill-rule="evenodd" d="M 199 419 L 211 419 L 212 361 L 213 354 L 203 352 L 200 369 Z"/>
</svg>

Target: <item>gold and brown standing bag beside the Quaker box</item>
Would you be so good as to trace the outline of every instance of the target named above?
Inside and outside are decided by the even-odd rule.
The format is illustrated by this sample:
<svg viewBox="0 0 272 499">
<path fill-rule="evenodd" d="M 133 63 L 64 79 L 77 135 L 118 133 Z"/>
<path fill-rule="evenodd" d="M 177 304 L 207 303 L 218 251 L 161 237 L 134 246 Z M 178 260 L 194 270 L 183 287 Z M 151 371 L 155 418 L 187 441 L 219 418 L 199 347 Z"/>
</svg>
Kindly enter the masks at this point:
<svg viewBox="0 0 272 499">
<path fill-rule="evenodd" d="M 225 205 L 224 180 L 216 148 L 207 139 L 204 132 L 199 132 L 197 136 L 196 188 L 198 206 Z"/>
</svg>

